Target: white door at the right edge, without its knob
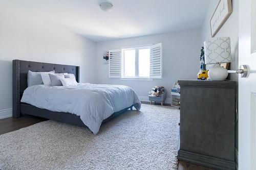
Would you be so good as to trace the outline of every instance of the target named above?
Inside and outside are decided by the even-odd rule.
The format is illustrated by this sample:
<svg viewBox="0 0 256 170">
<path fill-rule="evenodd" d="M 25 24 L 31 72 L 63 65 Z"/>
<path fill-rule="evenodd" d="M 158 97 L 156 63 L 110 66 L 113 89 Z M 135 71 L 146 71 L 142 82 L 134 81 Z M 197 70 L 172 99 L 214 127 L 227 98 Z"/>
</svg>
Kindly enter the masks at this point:
<svg viewBox="0 0 256 170">
<path fill-rule="evenodd" d="M 239 65 L 249 66 L 239 77 L 239 169 L 256 169 L 256 0 L 239 1 Z"/>
</svg>

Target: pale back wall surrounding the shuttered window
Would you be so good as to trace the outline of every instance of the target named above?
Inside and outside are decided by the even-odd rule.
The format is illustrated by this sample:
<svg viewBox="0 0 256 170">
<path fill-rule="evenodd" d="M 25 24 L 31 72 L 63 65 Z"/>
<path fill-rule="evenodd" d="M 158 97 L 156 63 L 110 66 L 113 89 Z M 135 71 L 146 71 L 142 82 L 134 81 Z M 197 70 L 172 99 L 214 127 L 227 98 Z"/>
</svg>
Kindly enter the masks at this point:
<svg viewBox="0 0 256 170">
<path fill-rule="evenodd" d="M 162 42 L 163 46 L 163 78 L 154 81 L 126 81 L 119 78 L 109 78 L 108 65 L 103 64 L 103 52 L 117 49 L 121 46 L 156 44 Z M 161 85 L 170 90 L 176 80 L 197 79 L 200 68 L 199 56 L 201 49 L 201 29 L 149 35 L 135 38 L 125 38 L 97 43 L 96 83 L 121 84 L 132 87 L 143 99 L 147 98 L 148 91 L 153 86 Z M 169 100 L 169 99 L 168 99 Z M 170 101 L 166 101 L 169 103 Z"/>
</svg>

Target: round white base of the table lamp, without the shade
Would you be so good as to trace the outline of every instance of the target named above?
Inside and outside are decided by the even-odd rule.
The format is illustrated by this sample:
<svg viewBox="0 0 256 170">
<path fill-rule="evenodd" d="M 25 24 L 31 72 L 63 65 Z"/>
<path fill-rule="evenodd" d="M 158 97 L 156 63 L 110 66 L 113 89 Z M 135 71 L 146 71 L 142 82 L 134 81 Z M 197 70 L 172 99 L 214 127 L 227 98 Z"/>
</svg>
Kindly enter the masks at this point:
<svg viewBox="0 0 256 170">
<path fill-rule="evenodd" d="M 210 80 L 226 80 L 228 72 L 227 69 L 220 66 L 220 64 L 215 64 L 209 69 L 208 76 Z"/>
</svg>

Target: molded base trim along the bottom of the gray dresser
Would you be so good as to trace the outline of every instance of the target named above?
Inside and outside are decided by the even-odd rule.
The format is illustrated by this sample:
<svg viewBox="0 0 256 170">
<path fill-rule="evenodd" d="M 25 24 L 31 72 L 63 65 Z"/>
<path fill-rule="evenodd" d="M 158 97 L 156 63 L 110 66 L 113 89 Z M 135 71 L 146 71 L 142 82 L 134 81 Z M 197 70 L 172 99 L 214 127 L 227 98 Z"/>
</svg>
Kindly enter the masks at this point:
<svg viewBox="0 0 256 170">
<path fill-rule="evenodd" d="M 213 169 L 223 169 L 223 170 L 235 170 L 236 164 L 234 161 L 219 159 L 211 156 L 195 154 L 192 152 L 187 152 L 183 150 L 178 151 L 178 160 L 182 160 L 189 163 L 194 163 Z"/>
</svg>

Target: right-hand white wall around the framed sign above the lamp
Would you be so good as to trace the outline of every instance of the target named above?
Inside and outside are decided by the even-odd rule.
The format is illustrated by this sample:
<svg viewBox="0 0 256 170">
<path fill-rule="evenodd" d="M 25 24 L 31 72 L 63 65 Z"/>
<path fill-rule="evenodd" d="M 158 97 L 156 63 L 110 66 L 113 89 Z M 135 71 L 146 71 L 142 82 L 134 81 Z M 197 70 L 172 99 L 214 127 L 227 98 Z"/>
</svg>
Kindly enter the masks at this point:
<svg viewBox="0 0 256 170">
<path fill-rule="evenodd" d="M 211 38 L 210 32 L 210 18 L 218 5 L 219 1 L 211 0 L 207 14 L 205 16 L 205 20 L 202 26 L 202 43 Z M 232 62 L 230 63 L 230 69 L 236 70 L 238 69 L 238 23 L 239 23 L 239 1 L 232 0 L 232 8 L 233 12 L 221 27 L 219 32 L 215 35 L 215 37 L 230 37 L 231 41 L 231 57 Z M 237 74 L 229 74 L 228 79 L 238 81 Z"/>
</svg>

